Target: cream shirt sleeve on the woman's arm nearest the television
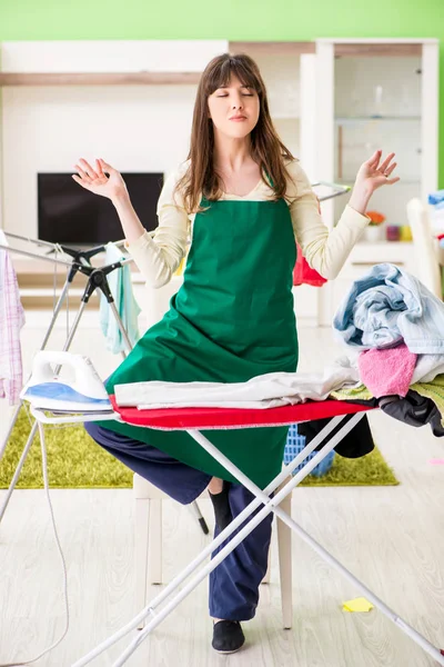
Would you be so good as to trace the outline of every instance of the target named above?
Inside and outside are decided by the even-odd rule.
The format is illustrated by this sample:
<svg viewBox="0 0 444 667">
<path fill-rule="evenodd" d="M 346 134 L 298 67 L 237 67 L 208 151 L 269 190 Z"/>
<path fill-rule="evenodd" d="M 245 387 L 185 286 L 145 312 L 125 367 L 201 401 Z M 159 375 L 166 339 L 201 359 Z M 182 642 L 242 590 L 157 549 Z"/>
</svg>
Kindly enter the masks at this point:
<svg viewBox="0 0 444 667">
<path fill-rule="evenodd" d="M 127 246 L 150 287 L 167 285 L 186 252 L 190 220 L 180 193 L 174 193 L 184 169 L 182 166 L 165 179 L 158 201 L 159 226 L 154 232 L 145 231 Z"/>
</svg>

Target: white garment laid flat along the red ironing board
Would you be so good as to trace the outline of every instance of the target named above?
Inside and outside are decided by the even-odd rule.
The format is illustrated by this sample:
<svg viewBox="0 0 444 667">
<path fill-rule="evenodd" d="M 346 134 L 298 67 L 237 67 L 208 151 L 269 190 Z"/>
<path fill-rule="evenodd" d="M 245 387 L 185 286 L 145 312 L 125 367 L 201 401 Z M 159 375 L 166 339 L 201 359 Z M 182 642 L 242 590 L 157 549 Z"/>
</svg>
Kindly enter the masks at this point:
<svg viewBox="0 0 444 667">
<path fill-rule="evenodd" d="M 120 407 L 275 408 L 305 400 L 325 400 L 340 388 L 361 384 L 357 368 L 340 357 L 323 372 L 270 372 L 246 382 L 130 382 L 115 385 Z"/>
</svg>

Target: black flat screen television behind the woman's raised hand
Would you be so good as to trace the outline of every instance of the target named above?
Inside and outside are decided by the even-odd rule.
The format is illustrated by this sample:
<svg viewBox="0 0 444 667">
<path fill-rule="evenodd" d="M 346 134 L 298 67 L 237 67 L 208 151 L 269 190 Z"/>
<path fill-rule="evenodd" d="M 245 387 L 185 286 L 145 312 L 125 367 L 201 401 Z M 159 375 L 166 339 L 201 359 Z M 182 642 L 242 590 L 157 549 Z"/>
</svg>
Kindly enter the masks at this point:
<svg viewBox="0 0 444 667">
<path fill-rule="evenodd" d="M 122 173 L 143 227 L 158 226 L 157 205 L 163 173 Z M 111 201 L 93 195 L 71 173 L 38 173 L 39 238 L 52 243 L 91 247 L 124 237 Z"/>
</svg>

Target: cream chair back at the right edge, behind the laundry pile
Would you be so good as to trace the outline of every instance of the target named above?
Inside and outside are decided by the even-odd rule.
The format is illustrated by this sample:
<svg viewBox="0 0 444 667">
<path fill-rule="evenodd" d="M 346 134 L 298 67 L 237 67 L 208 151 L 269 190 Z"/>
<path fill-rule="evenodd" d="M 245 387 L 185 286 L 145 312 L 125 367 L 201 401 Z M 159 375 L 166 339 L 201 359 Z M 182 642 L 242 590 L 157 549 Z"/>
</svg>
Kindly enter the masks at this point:
<svg viewBox="0 0 444 667">
<path fill-rule="evenodd" d="M 420 199 L 408 201 L 407 219 L 416 256 L 415 275 L 432 293 L 442 299 L 438 245 L 433 238 L 428 210 Z"/>
</svg>

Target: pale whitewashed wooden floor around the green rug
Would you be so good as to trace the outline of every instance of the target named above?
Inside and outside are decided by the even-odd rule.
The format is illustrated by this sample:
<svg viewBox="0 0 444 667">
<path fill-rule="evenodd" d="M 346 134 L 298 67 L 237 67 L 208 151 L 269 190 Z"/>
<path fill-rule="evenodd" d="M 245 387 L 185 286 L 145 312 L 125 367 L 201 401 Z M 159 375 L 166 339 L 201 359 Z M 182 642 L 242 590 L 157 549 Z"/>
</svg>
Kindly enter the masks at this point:
<svg viewBox="0 0 444 667">
<path fill-rule="evenodd" d="M 33 326 L 34 325 L 34 326 Z M 85 322 L 73 351 L 91 355 L 104 376 L 117 358 L 103 351 L 97 328 Z M 60 349 L 58 329 L 51 348 Z M 26 367 L 42 328 L 23 331 Z M 300 330 L 300 370 L 321 369 L 344 348 L 327 329 Z M 313 361 L 314 360 L 314 361 Z M 4 401 L 3 401 L 4 402 Z M 8 409 L 0 404 L 0 432 Z M 374 437 L 402 482 L 389 488 L 296 489 L 293 516 L 375 594 L 431 641 L 444 646 L 444 441 L 428 427 L 413 429 L 371 415 Z M 70 630 L 38 665 L 69 667 L 128 623 L 134 607 L 131 490 L 51 492 L 68 563 Z M 202 510 L 212 525 L 209 501 Z M 170 579 L 205 542 L 192 514 L 165 502 L 164 570 Z M 294 623 L 281 626 L 275 542 L 270 586 L 261 587 L 254 620 L 244 624 L 245 648 L 222 657 L 210 646 L 206 584 L 202 584 L 144 641 L 129 666 L 154 667 L 426 667 L 435 663 L 380 611 L 346 614 L 344 600 L 360 596 L 339 573 L 293 538 Z M 61 568 L 42 491 L 16 491 L 0 527 L 0 663 L 32 658 L 63 628 Z M 153 596 L 159 588 L 153 588 Z M 122 640 L 93 665 L 108 667 Z"/>
</svg>

